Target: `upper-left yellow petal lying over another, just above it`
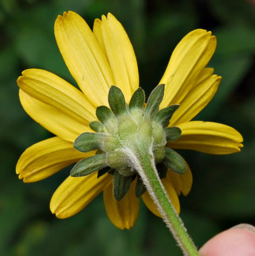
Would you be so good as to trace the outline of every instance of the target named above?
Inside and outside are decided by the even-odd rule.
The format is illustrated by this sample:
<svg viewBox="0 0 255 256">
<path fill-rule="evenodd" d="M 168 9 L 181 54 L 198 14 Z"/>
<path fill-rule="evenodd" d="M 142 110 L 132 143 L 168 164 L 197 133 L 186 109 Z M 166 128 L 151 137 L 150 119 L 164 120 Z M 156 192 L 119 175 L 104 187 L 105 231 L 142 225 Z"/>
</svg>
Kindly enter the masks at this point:
<svg viewBox="0 0 255 256">
<path fill-rule="evenodd" d="M 95 108 L 83 93 L 57 75 L 46 70 L 29 69 L 22 72 L 17 83 L 26 94 L 73 117 L 83 125 L 96 119 Z"/>
</svg>

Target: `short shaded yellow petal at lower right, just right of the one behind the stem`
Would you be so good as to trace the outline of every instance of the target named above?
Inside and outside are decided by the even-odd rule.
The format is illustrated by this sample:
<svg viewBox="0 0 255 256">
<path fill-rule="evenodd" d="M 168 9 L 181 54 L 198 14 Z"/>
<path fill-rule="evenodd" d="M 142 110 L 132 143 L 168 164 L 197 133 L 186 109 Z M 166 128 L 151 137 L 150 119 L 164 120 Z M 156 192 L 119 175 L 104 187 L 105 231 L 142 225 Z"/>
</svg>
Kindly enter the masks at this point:
<svg viewBox="0 0 255 256">
<path fill-rule="evenodd" d="M 185 160 L 184 160 L 185 161 Z M 174 173 L 170 169 L 168 169 L 167 172 L 167 181 L 172 182 L 172 185 L 174 186 L 174 189 L 176 190 L 177 194 L 180 196 L 180 192 L 184 194 L 184 196 L 187 196 L 189 194 L 189 191 L 191 190 L 193 177 L 192 173 L 190 171 L 189 165 L 186 163 L 186 172 L 184 174 Z"/>
</svg>

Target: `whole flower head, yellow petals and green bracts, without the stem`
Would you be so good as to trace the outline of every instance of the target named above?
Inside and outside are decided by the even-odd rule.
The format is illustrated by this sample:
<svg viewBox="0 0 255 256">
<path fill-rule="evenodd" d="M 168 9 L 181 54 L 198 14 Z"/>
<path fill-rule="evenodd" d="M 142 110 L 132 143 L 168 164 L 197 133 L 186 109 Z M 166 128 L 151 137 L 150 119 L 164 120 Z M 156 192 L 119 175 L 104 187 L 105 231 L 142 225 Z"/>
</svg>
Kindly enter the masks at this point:
<svg viewBox="0 0 255 256">
<path fill-rule="evenodd" d="M 132 45 L 112 14 L 96 19 L 92 32 L 81 16 L 64 12 L 56 19 L 54 33 L 81 91 L 45 70 L 25 70 L 18 77 L 24 110 L 56 136 L 29 147 L 18 160 L 16 173 L 24 182 L 35 182 L 78 162 L 72 175 L 85 176 L 69 176 L 58 187 L 50 202 L 56 217 L 75 215 L 100 192 L 104 192 L 109 219 L 119 228 L 134 225 L 141 195 L 147 207 L 160 216 L 135 168 L 125 160 L 127 150 L 123 144 L 116 146 L 125 141 L 130 147 L 134 140 L 130 131 L 142 140 L 144 133 L 137 133 L 138 128 L 150 127 L 159 175 L 177 212 L 178 196 L 189 193 L 192 175 L 185 160 L 170 148 L 209 154 L 240 151 L 243 138 L 235 129 L 220 123 L 191 121 L 210 102 L 221 80 L 212 68 L 206 68 L 216 48 L 216 38 L 210 32 L 194 30 L 177 45 L 159 82 L 163 85 L 156 87 L 163 94 L 153 114 L 147 114 L 152 111 L 149 100 L 147 106 L 144 99 L 140 100 L 143 91 L 138 89 Z M 170 116 L 165 117 L 170 109 Z M 165 122 L 161 121 L 163 117 Z M 144 120 L 149 120 L 148 125 Z M 172 164 L 172 156 L 178 158 L 181 167 Z"/>
</svg>

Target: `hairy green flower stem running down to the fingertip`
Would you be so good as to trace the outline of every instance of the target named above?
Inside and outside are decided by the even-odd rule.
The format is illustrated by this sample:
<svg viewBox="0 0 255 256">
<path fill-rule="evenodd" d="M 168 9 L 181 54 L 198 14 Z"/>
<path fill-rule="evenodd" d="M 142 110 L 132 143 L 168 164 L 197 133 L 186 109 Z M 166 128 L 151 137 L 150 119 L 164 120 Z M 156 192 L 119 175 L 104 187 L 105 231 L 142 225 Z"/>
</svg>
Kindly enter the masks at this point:
<svg viewBox="0 0 255 256">
<path fill-rule="evenodd" d="M 151 198 L 157 205 L 163 220 L 167 224 L 174 239 L 182 249 L 184 255 L 198 256 L 197 248 L 186 232 L 178 213 L 174 209 L 167 192 L 159 178 L 152 152 L 146 152 L 140 147 L 136 148 L 135 154 L 130 156 L 133 163 L 136 163 L 136 171 L 144 181 Z"/>
</svg>

